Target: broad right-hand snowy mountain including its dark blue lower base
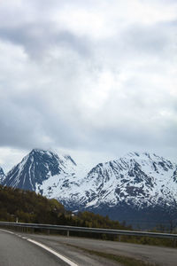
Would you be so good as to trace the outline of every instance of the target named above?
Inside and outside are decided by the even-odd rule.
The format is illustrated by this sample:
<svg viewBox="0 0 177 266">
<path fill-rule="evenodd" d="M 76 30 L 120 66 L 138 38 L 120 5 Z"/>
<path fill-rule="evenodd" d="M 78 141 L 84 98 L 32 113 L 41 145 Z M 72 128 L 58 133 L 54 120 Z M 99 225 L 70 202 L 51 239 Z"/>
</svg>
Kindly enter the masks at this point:
<svg viewBox="0 0 177 266">
<path fill-rule="evenodd" d="M 177 165 L 156 154 L 128 153 L 92 168 L 77 192 L 75 206 L 71 196 L 65 206 L 145 227 L 171 223 L 177 218 Z"/>
</svg>

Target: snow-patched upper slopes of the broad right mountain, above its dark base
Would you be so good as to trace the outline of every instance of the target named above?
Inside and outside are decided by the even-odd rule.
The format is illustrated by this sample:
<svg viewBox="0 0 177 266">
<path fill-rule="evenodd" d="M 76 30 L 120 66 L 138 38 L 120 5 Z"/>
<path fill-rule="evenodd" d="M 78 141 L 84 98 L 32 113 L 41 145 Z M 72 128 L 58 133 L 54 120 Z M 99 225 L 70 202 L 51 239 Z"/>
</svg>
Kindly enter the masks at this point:
<svg viewBox="0 0 177 266">
<path fill-rule="evenodd" d="M 120 202 L 139 208 L 172 205 L 177 201 L 177 165 L 156 154 L 128 153 L 92 168 L 76 194 L 75 200 L 84 207 L 113 207 Z"/>
</svg>

